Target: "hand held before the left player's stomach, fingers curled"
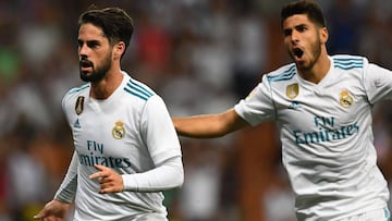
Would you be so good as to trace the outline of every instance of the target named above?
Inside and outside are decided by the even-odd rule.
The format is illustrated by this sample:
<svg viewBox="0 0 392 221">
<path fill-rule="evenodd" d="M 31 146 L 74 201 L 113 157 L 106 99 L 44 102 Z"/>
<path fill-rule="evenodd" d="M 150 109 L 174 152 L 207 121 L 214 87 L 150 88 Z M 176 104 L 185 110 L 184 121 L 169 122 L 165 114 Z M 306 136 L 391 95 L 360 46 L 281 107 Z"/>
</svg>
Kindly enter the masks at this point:
<svg viewBox="0 0 392 221">
<path fill-rule="evenodd" d="M 94 165 L 98 172 L 91 174 L 89 179 L 99 179 L 100 194 L 119 193 L 124 191 L 122 176 L 115 171 L 105 165 Z"/>
</svg>

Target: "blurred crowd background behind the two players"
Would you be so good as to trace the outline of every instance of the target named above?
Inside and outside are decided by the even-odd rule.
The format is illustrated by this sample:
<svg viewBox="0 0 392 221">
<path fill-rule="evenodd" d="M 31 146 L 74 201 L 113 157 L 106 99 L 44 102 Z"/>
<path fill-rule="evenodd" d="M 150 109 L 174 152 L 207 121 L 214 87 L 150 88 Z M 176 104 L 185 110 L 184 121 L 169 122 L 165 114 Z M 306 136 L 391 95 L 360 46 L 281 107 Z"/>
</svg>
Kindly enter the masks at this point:
<svg viewBox="0 0 392 221">
<path fill-rule="evenodd" d="M 261 75 L 290 62 L 284 0 L 0 0 L 0 221 L 28 221 L 66 172 L 72 137 L 61 98 L 82 84 L 77 17 L 91 3 L 135 23 L 122 65 L 173 116 L 233 107 Z M 329 52 L 392 70 L 392 1 L 320 1 Z M 392 184 L 391 102 L 375 107 L 378 163 Z M 273 123 L 217 139 L 181 138 L 185 184 L 166 193 L 174 221 L 293 221 L 293 195 Z M 70 212 L 70 217 L 72 211 Z"/>
</svg>

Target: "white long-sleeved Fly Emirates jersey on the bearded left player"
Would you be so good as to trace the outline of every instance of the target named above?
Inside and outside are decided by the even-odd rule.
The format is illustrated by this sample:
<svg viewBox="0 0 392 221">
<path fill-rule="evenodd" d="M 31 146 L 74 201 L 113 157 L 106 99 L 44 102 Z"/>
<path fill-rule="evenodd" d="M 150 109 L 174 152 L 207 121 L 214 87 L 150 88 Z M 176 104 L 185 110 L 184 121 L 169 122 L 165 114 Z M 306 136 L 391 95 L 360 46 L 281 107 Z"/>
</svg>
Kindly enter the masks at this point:
<svg viewBox="0 0 392 221">
<path fill-rule="evenodd" d="M 63 98 L 75 154 L 54 198 L 75 197 L 74 220 L 167 220 L 160 191 L 183 182 L 180 142 L 163 100 L 123 76 L 108 99 L 93 99 L 89 84 Z M 97 172 L 94 164 L 122 174 L 125 192 L 99 194 L 98 179 L 88 177 Z"/>
</svg>

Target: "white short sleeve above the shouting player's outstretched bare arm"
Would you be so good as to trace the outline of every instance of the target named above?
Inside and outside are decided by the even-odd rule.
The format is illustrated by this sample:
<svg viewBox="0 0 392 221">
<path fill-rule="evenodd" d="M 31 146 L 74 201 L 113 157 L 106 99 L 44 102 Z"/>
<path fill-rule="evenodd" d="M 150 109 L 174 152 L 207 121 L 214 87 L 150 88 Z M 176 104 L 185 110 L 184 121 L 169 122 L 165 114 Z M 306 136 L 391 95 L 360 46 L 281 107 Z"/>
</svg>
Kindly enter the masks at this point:
<svg viewBox="0 0 392 221">
<path fill-rule="evenodd" d="M 253 126 L 272 121 L 275 118 L 275 109 L 271 96 L 267 75 L 264 75 L 262 82 L 245 99 L 235 105 L 234 110 Z"/>
</svg>

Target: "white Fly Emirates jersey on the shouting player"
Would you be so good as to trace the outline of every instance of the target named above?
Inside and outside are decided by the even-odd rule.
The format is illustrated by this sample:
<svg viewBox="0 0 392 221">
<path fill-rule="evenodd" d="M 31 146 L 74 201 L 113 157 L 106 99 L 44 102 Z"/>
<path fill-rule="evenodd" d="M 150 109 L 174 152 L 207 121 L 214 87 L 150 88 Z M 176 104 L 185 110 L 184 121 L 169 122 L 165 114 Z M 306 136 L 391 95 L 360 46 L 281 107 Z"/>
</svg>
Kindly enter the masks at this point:
<svg viewBox="0 0 392 221">
<path fill-rule="evenodd" d="M 264 75 L 235 111 L 249 124 L 277 121 L 298 220 L 334 221 L 385 208 L 371 107 L 392 98 L 392 72 L 366 58 L 329 57 L 324 78 L 304 81 L 294 63 Z"/>
</svg>

